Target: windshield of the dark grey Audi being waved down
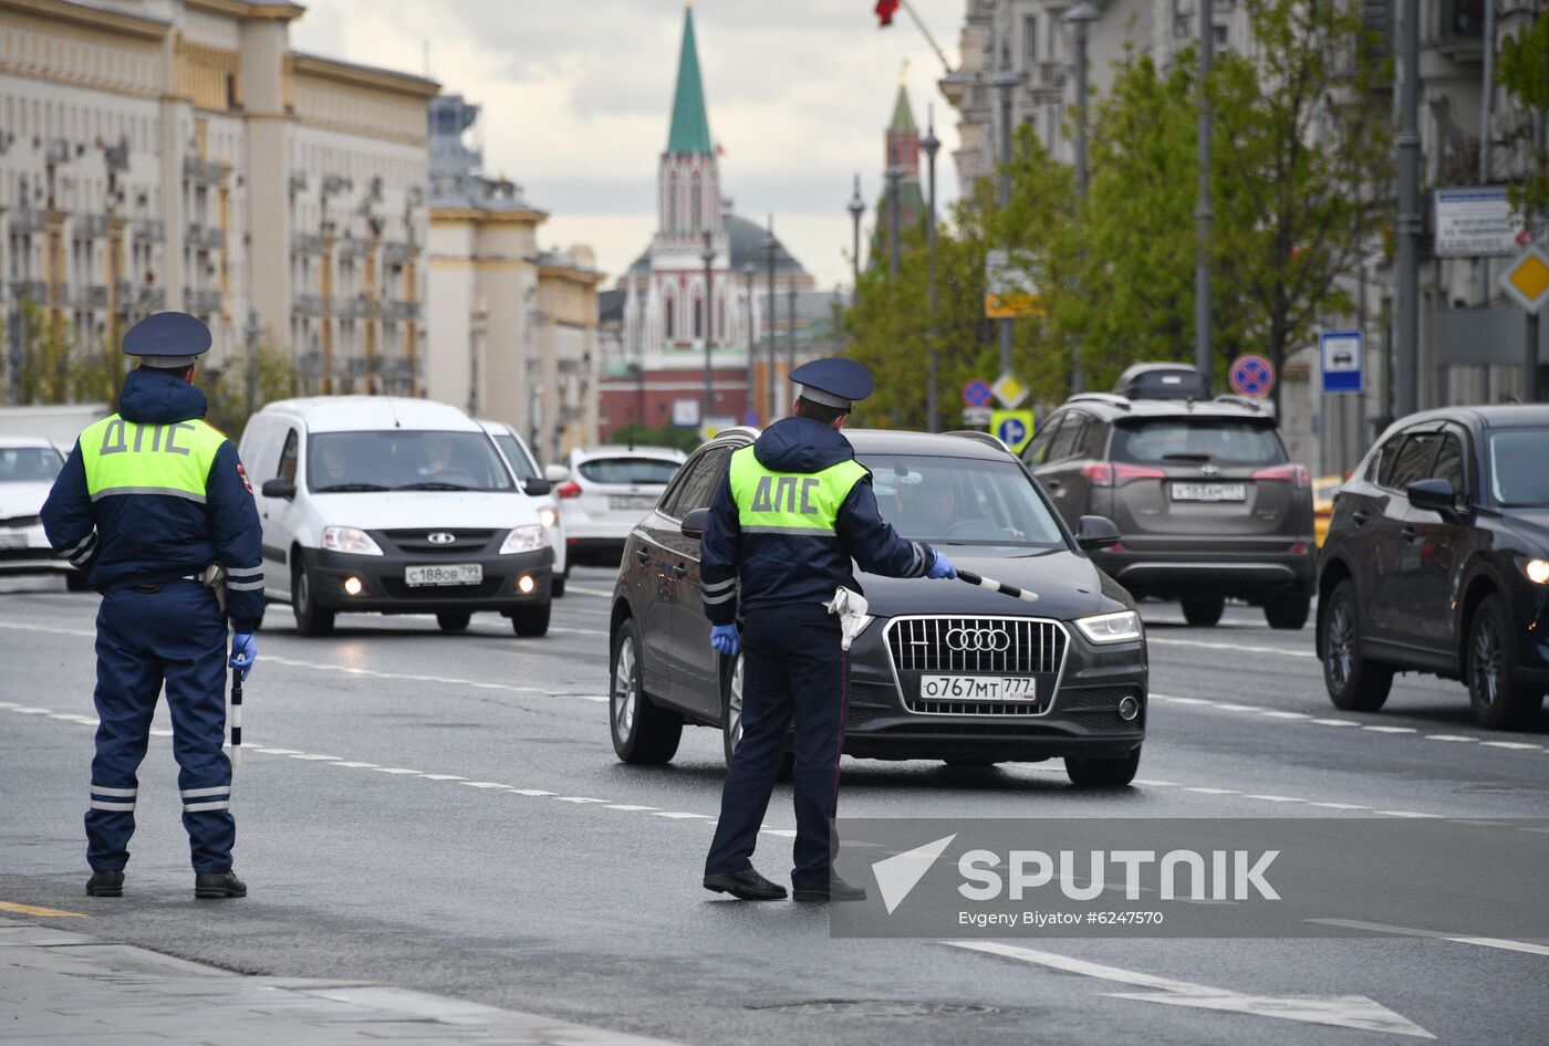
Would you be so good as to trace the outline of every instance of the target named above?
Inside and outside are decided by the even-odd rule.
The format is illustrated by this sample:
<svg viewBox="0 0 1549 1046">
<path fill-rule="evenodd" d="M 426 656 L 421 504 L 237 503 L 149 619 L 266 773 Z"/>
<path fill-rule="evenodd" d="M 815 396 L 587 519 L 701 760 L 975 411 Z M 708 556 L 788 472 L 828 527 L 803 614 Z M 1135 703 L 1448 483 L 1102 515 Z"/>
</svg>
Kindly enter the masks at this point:
<svg viewBox="0 0 1549 1046">
<path fill-rule="evenodd" d="M 929 545 L 1064 545 L 1060 525 L 1015 461 L 861 455 L 877 508 L 903 537 Z"/>
</svg>

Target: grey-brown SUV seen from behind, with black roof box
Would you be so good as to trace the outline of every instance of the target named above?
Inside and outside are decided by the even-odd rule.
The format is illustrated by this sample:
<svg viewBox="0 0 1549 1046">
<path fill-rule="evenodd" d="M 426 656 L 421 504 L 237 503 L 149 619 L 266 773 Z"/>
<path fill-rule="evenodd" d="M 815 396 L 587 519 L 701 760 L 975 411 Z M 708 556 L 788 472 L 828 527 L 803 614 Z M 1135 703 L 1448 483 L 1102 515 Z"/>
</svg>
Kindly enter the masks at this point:
<svg viewBox="0 0 1549 1046">
<path fill-rule="evenodd" d="M 1312 483 L 1255 401 L 1072 396 L 1022 461 L 1066 521 L 1101 515 L 1120 542 L 1092 560 L 1135 599 L 1177 600 L 1214 625 L 1227 597 L 1301 628 L 1312 608 Z"/>
</svg>

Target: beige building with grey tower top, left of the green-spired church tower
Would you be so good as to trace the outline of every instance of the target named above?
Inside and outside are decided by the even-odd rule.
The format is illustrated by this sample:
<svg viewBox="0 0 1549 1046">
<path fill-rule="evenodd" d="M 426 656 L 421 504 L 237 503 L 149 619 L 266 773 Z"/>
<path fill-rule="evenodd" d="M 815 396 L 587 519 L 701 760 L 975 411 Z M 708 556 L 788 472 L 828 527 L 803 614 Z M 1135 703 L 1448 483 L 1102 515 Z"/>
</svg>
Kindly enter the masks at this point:
<svg viewBox="0 0 1549 1046">
<path fill-rule="evenodd" d="M 482 172 L 479 115 L 460 94 L 431 102 L 426 391 L 559 461 L 596 443 L 603 274 L 590 248 L 539 248 L 548 214 Z"/>
</svg>

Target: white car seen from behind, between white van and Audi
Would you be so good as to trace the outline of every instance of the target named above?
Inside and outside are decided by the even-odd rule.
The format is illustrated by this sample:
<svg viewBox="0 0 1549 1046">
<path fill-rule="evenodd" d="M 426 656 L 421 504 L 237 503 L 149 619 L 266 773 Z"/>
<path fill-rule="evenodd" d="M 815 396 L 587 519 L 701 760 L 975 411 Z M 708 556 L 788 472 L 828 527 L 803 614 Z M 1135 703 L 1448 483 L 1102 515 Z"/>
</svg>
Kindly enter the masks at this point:
<svg viewBox="0 0 1549 1046">
<path fill-rule="evenodd" d="M 672 447 L 572 450 L 570 466 L 548 466 L 572 563 L 618 566 L 624 540 L 688 460 Z"/>
</svg>

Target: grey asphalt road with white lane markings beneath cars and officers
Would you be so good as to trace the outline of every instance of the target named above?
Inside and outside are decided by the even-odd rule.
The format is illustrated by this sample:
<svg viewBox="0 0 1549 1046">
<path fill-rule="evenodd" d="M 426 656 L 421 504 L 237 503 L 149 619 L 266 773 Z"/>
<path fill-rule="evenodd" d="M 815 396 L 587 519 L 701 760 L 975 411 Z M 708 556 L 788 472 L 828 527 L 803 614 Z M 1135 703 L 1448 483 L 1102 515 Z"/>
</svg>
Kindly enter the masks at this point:
<svg viewBox="0 0 1549 1046">
<path fill-rule="evenodd" d="M 96 597 L 0 582 L 0 901 L 82 911 L 82 931 L 235 970 L 369 978 L 703 1046 L 1358 1046 L 1420 1029 L 1456 1043 L 1544 1038 L 1544 941 L 1010 942 L 1036 949 L 1029 961 L 830 939 L 821 907 L 716 899 L 699 879 L 720 738 L 688 730 L 668 767 L 615 760 L 609 583 L 576 571 L 538 641 L 494 616 L 462 636 L 429 619 L 349 617 L 331 639 L 304 639 L 287 607 L 271 608 L 235 791 L 237 871 L 251 896 L 198 905 L 164 710 L 141 771 L 125 896 L 81 896 Z M 1185 627 L 1165 605 L 1145 616 L 1152 709 L 1134 788 L 1077 792 L 1058 763 L 846 760 L 841 812 L 1549 814 L 1546 720 L 1526 735 L 1489 733 L 1472 726 L 1458 684 L 1416 676 L 1399 679 L 1380 713 L 1335 712 L 1310 628 L 1272 631 L 1247 608 L 1218 628 Z M 771 877 L 788 873 L 793 823 L 782 789 L 759 846 Z M 1487 870 L 1481 882 L 1489 896 Z M 1427 925 L 1425 913 L 1410 925 Z M 1117 996 L 1156 978 L 1269 1001 Z M 1362 1031 L 1266 1015 L 1292 995 L 1366 996 L 1399 1023 Z"/>
</svg>

